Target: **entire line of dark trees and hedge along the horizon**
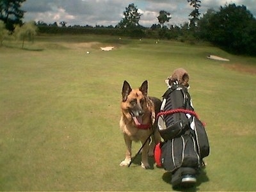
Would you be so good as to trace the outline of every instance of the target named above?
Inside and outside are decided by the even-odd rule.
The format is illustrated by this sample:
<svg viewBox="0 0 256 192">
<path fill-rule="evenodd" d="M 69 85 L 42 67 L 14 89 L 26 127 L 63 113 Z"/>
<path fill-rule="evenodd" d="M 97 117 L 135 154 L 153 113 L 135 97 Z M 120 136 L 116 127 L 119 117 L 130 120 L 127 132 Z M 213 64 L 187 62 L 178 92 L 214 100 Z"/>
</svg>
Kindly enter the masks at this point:
<svg viewBox="0 0 256 192">
<path fill-rule="evenodd" d="M 28 27 L 22 22 L 24 11 L 21 4 L 26 0 L 0 0 L 0 20 L 3 20 L 5 28 L 11 33 L 23 31 L 20 38 L 31 38 L 36 29 Z M 201 1 L 187 0 L 193 11 L 188 15 L 188 22 L 180 25 L 169 24 L 172 14 L 166 10 L 159 11 L 158 24 L 152 24 L 150 28 L 140 25 L 142 14 L 134 3 L 129 4 L 124 10 L 124 17 L 116 26 L 67 26 L 67 22 L 59 24 L 46 24 L 43 21 L 30 23 L 36 26 L 39 33 L 68 33 L 68 34 L 97 34 L 131 36 L 132 38 L 160 38 L 173 39 L 192 43 L 198 40 L 211 42 L 212 44 L 234 54 L 256 55 L 256 19 L 246 6 L 225 4 L 218 11 L 209 9 L 200 17 Z M 3 24 L 0 23 L 0 40 L 3 42 Z M 2 26 L 2 27 L 1 27 Z M 26 26 L 26 28 L 24 27 Z M 33 30 L 34 32 L 33 32 Z M 25 33 L 24 31 L 27 32 Z M 31 31 L 32 30 L 32 31 Z M 21 32 L 16 34 L 22 34 Z M 29 37 L 30 36 L 30 37 Z"/>
</svg>

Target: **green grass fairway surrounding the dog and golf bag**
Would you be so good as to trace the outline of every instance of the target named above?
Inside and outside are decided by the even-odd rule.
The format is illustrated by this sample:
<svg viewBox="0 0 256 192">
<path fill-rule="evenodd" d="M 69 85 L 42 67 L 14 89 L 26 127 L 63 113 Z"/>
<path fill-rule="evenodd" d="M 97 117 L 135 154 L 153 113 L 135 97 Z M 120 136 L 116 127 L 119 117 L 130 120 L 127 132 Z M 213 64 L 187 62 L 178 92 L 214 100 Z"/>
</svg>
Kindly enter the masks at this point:
<svg viewBox="0 0 256 192">
<path fill-rule="evenodd" d="M 178 67 L 191 76 L 211 145 L 191 191 L 256 191 L 256 58 L 113 36 L 37 36 L 20 46 L 0 47 L 0 191 L 172 191 L 163 169 L 143 170 L 139 160 L 119 166 L 118 124 L 124 80 L 138 87 L 147 79 L 149 94 L 161 98 Z"/>
</svg>

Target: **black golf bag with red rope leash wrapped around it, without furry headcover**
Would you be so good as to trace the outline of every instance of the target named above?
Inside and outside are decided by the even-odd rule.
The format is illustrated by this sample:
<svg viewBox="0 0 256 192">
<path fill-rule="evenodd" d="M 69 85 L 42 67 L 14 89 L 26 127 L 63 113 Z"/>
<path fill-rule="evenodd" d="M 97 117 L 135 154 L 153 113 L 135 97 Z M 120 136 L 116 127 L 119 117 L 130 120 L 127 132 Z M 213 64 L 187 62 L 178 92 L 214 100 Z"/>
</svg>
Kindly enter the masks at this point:
<svg viewBox="0 0 256 192">
<path fill-rule="evenodd" d="M 176 83 L 164 93 L 157 124 L 164 139 L 155 149 L 157 165 L 172 173 L 173 187 L 195 184 L 209 142 L 186 86 Z"/>
</svg>

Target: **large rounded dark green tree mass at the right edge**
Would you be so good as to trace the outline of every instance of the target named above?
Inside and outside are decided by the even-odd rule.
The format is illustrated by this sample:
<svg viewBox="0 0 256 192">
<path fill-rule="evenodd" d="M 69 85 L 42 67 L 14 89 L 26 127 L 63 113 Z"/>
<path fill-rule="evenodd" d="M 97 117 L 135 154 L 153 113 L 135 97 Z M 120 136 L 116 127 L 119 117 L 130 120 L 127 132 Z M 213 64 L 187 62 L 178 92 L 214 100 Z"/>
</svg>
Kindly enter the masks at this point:
<svg viewBox="0 0 256 192">
<path fill-rule="evenodd" d="M 198 22 L 201 36 L 229 52 L 256 55 L 256 19 L 246 6 L 226 4 L 204 17 Z"/>
</svg>

